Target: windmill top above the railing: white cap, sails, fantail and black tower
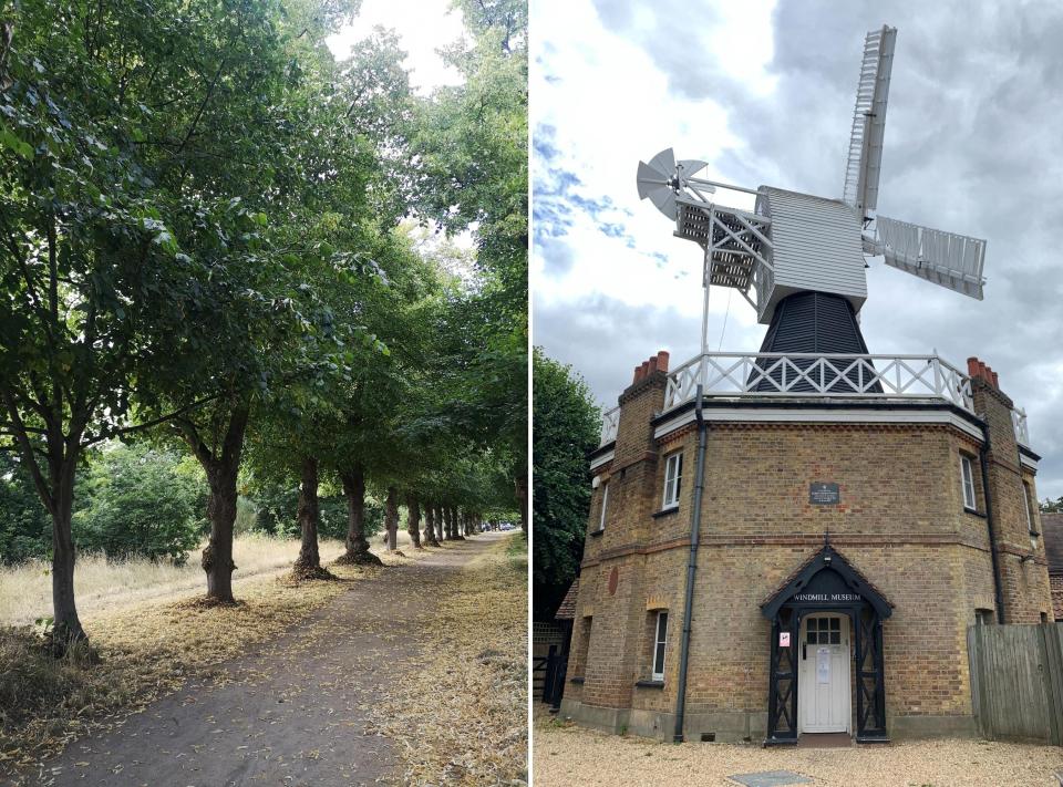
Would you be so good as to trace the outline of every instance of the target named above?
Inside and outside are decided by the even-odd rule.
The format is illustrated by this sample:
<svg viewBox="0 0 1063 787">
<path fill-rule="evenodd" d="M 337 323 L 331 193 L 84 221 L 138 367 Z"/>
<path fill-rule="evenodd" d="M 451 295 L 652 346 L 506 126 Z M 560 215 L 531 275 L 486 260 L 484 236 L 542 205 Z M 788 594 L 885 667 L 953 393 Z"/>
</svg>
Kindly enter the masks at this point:
<svg viewBox="0 0 1063 787">
<path fill-rule="evenodd" d="M 982 299 L 985 241 L 878 216 L 886 101 L 897 29 L 867 34 L 840 199 L 696 177 L 700 160 L 669 148 L 639 162 L 639 197 L 704 251 L 702 353 L 711 286 L 739 291 L 767 324 L 762 353 L 867 353 L 858 314 L 867 300 L 865 255 Z M 716 188 L 755 196 L 753 210 L 714 204 Z"/>
</svg>

